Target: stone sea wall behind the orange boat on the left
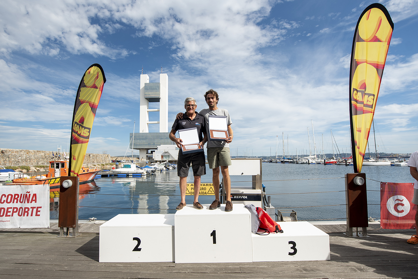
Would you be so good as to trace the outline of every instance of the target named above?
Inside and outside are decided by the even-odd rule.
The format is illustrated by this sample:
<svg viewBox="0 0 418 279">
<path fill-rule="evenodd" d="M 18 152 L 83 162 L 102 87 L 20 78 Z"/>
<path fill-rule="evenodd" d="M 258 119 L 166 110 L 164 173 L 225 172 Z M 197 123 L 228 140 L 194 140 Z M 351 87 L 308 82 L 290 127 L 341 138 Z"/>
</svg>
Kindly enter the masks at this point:
<svg viewBox="0 0 418 279">
<path fill-rule="evenodd" d="M 56 153 L 54 152 L 54 155 Z M 57 159 L 57 157 L 54 157 Z M 0 165 L 2 166 L 33 166 L 49 165 L 54 160 L 51 151 L 22 150 L 0 148 Z M 90 154 L 84 157 L 84 164 L 105 164 L 110 163 L 109 154 Z"/>
</svg>

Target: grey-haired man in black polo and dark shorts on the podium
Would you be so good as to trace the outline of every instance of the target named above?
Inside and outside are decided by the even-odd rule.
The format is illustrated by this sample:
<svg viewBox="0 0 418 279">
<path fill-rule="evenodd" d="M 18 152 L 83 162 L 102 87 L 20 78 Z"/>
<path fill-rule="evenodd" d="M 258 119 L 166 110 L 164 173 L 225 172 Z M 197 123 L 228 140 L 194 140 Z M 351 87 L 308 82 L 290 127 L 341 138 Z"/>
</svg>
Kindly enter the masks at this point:
<svg viewBox="0 0 418 279">
<path fill-rule="evenodd" d="M 177 175 L 180 177 L 180 195 L 181 202 L 177 206 L 177 210 L 181 210 L 186 206 L 186 180 L 187 175 L 189 175 L 190 163 L 192 164 L 193 175 L 194 175 L 194 202 L 193 207 L 197 209 L 203 209 L 203 206 L 199 203 L 199 191 L 200 191 L 200 176 L 206 174 L 206 164 L 205 164 L 205 153 L 203 151 L 203 145 L 207 142 L 206 136 L 206 122 L 203 116 L 196 112 L 196 100 L 194 98 L 188 97 L 184 101 L 184 108 L 186 113 L 183 114 L 181 119 L 176 119 L 174 121 L 173 127 L 171 127 L 171 132 L 169 134 L 170 139 L 173 142 L 176 142 L 178 150 L 178 159 L 177 159 Z M 176 132 L 180 129 L 189 129 L 197 128 L 197 133 L 199 135 L 199 146 L 202 148 L 201 152 L 194 152 L 183 154 L 181 150 L 183 140 L 176 137 Z"/>
</svg>

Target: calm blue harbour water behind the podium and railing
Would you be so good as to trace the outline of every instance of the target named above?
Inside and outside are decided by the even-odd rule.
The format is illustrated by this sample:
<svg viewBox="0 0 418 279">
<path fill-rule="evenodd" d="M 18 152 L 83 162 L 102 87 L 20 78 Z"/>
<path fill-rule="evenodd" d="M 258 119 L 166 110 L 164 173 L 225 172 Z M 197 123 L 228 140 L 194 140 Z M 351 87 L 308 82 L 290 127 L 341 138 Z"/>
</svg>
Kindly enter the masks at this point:
<svg viewBox="0 0 418 279">
<path fill-rule="evenodd" d="M 275 208 L 293 209 L 297 218 L 309 221 L 345 221 L 344 175 L 352 166 L 263 163 L 263 184 Z M 380 219 L 380 182 L 413 183 L 409 167 L 363 166 L 366 174 L 368 216 Z M 221 176 L 222 179 L 222 176 Z M 377 181 L 374 181 L 377 180 Z M 155 172 L 148 177 L 97 178 L 80 185 L 79 219 L 109 220 L 117 214 L 175 213 L 180 203 L 177 170 Z M 251 176 L 231 176 L 232 188 L 250 186 Z M 193 183 L 190 170 L 188 183 Z M 201 183 L 212 183 L 206 165 Z M 186 203 L 193 203 L 186 196 Z M 214 195 L 199 196 L 202 204 Z M 58 193 L 51 192 L 51 219 L 58 219 Z"/>
</svg>

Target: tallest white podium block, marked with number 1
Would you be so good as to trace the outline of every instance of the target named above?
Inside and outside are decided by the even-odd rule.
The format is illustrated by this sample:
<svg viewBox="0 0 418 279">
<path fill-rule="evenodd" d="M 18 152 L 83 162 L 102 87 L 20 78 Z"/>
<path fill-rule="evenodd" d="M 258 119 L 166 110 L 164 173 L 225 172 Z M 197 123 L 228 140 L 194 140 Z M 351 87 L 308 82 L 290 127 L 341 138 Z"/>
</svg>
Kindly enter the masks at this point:
<svg viewBox="0 0 418 279">
<path fill-rule="evenodd" d="M 176 263 L 251 262 L 250 211 L 242 203 L 202 210 L 187 205 L 174 215 Z"/>
</svg>

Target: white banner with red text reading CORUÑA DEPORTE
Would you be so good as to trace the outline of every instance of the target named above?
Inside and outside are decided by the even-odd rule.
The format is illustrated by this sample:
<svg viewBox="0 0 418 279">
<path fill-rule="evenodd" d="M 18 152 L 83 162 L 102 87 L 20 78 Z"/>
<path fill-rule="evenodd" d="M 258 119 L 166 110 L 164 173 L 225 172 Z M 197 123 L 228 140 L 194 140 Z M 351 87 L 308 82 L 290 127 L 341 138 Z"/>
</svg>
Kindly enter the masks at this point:
<svg viewBox="0 0 418 279">
<path fill-rule="evenodd" d="M 49 228 L 49 185 L 1 186 L 0 228 Z"/>
</svg>

